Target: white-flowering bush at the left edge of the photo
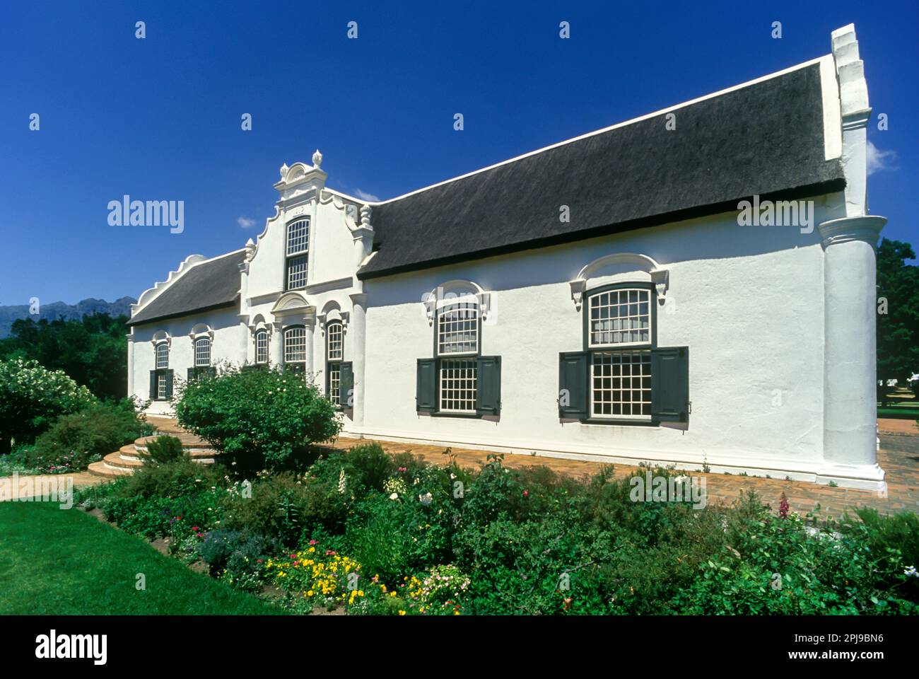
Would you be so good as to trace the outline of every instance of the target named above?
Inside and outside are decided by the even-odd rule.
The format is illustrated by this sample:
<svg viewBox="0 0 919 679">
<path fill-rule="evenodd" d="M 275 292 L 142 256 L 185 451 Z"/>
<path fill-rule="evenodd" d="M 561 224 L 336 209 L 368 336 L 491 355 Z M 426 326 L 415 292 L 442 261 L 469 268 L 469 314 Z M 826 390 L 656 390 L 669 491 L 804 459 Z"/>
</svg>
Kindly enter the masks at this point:
<svg viewBox="0 0 919 679">
<path fill-rule="evenodd" d="M 0 455 L 12 440 L 31 443 L 58 416 L 96 403 L 89 389 L 60 370 L 47 370 L 38 361 L 0 361 Z"/>
</svg>

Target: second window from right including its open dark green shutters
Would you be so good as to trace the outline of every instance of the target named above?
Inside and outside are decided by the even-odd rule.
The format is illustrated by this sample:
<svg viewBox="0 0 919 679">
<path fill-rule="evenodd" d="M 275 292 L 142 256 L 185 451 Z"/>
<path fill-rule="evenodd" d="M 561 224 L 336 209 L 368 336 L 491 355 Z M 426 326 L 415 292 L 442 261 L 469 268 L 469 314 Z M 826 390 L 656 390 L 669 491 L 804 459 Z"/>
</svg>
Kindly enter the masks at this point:
<svg viewBox="0 0 919 679">
<path fill-rule="evenodd" d="M 434 358 L 418 360 L 418 411 L 459 417 L 500 413 L 501 357 L 482 356 L 480 308 L 474 294 L 437 301 Z"/>
</svg>

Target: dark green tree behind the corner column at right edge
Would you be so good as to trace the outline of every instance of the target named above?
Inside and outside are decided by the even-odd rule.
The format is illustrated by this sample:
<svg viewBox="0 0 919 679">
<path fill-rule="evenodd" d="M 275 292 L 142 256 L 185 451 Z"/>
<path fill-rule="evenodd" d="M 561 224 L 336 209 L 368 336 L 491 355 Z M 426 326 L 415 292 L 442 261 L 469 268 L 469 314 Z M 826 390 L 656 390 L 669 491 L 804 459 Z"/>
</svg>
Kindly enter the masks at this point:
<svg viewBox="0 0 919 679">
<path fill-rule="evenodd" d="M 919 267 L 909 243 L 884 238 L 878 247 L 878 379 L 904 384 L 919 372 Z"/>
</svg>

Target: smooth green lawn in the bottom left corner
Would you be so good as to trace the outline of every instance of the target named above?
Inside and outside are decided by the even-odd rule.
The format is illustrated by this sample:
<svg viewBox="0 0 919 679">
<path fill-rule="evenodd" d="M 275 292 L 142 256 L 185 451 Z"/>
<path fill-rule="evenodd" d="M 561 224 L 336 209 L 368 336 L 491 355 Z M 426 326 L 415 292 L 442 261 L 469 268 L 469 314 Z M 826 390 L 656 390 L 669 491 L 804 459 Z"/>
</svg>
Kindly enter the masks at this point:
<svg viewBox="0 0 919 679">
<path fill-rule="evenodd" d="M 136 576 L 146 589 L 136 589 Z M 141 538 L 53 502 L 0 502 L 0 614 L 251 615 L 281 610 Z"/>
</svg>

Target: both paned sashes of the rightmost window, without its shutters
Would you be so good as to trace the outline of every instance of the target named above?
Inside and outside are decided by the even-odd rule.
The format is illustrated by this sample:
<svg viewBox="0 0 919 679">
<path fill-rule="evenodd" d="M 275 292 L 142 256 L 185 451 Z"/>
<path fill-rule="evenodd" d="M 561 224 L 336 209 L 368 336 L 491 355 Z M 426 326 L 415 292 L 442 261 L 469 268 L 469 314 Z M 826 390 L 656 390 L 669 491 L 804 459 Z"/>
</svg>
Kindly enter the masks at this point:
<svg viewBox="0 0 919 679">
<path fill-rule="evenodd" d="M 617 287 L 587 297 L 591 417 L 650 420 L 651 303 L 650 288 Z M 623 345 L 628 349 L 619 350 Z"/>
</svg>

